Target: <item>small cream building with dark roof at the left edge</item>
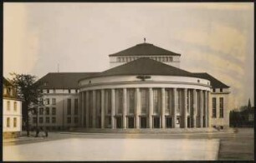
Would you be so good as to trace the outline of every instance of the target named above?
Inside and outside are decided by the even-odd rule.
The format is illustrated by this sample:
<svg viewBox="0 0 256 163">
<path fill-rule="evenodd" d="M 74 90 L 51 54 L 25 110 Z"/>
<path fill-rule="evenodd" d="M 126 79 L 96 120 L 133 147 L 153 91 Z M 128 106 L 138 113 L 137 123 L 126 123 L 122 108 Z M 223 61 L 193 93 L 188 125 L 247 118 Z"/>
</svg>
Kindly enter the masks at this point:
<svg viewBox="0 0 256 163">
<path fill-rule="evenodd" d="M 3 77 L 3 137 L 19 136 L 22 131 L 22 101 L 16 87 Z"/>
</svg>

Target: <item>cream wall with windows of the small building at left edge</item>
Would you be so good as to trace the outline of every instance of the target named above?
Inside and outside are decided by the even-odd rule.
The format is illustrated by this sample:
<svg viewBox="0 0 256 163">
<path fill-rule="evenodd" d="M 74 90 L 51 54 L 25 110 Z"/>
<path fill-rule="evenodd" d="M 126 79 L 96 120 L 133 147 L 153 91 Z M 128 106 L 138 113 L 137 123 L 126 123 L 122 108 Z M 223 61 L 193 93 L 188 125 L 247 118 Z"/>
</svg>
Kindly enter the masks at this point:
<svg viewBox="0 0 256 163">
<path fill-rule="evenodd" d="M 10 101 L 10 110 L 7 103 Z M 14 111 L 14 101 L 17 102 L 17 111 Z M 13 126 L 13 118 L 17 118 L 17 126 Z M 10 126 L 7 126 L 7 119 L 10 118 Z M 22 131 L 22 101 L 3 98 L 3 132 Z"/>
</svg>

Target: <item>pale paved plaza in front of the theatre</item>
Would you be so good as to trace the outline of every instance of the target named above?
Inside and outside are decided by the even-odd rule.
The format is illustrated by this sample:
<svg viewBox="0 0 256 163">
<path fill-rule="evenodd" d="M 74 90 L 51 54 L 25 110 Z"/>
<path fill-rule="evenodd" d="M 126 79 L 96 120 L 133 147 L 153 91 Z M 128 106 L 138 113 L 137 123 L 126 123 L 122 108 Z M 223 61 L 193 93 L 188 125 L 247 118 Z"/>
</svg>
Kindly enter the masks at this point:
<svg viewBox="0 0 256 163">
<path fill-rule="evenodd" d="M 33 133 L 32 133 L 33 135 Z M 236 133 L 114 134 L 50 132 L 5 141 L 4 161 L 253 160 L 253 129 Z"/>
</svg>

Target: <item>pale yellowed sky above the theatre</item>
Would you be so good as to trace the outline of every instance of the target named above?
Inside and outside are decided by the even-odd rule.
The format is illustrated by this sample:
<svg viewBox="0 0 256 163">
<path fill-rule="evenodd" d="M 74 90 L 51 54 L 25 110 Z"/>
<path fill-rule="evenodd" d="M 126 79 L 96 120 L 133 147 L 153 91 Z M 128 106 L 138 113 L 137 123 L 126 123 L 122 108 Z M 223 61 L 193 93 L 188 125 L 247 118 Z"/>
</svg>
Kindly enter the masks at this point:
<svg viewBox="0 0 256 163">
<path fill-rule="evenodd" d="M 231 109 L 253 101 L 253 2 L 4 2 L 3 76 L 103 72 L 138 43 L 181 53 L 181 68 L 230 86 Z"/>
</svg>

